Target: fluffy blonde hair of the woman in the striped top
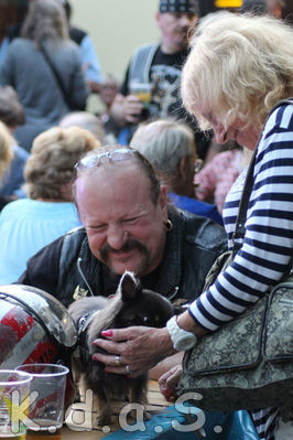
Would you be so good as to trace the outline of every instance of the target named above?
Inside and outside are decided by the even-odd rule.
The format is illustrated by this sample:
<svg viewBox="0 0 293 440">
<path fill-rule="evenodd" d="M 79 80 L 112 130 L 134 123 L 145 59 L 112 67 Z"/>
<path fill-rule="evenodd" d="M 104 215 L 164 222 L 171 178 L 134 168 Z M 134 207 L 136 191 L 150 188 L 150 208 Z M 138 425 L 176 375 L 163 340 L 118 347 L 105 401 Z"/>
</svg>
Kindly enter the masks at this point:
<svg viewBox="0 0 293 440">
<path fill-rule="evenodd" d="M 191 47 L 181 93 L 203 130 L 210 129 L 203 107 L 226 129 L 236 118 L 261 129 L 272 106 L 293 96 L 293 30 L 281 20 L 215 15 L 199 24 Z"/>
</svg>

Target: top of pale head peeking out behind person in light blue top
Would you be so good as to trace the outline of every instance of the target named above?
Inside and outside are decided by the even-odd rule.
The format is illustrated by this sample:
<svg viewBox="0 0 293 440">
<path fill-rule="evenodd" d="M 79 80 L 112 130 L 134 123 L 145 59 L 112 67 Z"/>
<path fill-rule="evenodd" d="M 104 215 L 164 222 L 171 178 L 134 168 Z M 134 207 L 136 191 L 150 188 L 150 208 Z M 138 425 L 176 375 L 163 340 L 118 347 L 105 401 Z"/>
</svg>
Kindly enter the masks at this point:
<svg viewBox="0 0 293 440">
<path fill-rule="evenodd" d="M 61 128 L 82 127 L 90 131 L 100 143 L 105 143 L 105 131 L 100 119 L 89 111 L 72 111 L 59 120 Z"/>
</svg>

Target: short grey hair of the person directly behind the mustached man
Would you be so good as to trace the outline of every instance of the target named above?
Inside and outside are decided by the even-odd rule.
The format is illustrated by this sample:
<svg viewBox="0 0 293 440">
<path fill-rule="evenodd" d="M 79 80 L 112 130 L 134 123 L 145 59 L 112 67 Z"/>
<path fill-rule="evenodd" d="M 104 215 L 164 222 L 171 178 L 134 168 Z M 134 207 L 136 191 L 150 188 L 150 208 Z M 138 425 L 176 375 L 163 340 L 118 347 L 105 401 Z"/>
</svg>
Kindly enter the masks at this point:
<svg viewBox="0 0 293 440">
<path fill-rule="evenodd" d="M 174 173 L 182 158 L 188 155 L 196 159 L 192 129 L 186 124 L 173 119 L 140 125 L 130 141 L 130 147 L 166 175 Z"/>
</svg>

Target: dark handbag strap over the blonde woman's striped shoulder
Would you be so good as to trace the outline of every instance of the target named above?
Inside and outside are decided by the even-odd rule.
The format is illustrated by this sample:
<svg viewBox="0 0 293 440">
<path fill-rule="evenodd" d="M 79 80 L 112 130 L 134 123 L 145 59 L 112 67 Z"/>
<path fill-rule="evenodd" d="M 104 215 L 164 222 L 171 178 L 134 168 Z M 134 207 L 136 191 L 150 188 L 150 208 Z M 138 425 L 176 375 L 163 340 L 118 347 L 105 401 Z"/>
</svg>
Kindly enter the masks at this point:
<svg viewBox="0 0 293 440">
<path fill-rule="evenodd" d="M 269 116 L 272 114 L 272 111 L 275 108 L 282 106 L 283 104 L 293 104 L 293 97 L 279 100 L 271 109 Z M 234 257 L 238 253 L 240 247 L 242 246 L 242 239 L 243 239 L 245 233 L 246 233 L 245 224 L 246 224 L 246 219 L 247 219 L 249 198 L 250 198 L 250 194 L 252 192 L 252 186 L 253 186 L 253 170 L 254 170 L 254 164 L 256 164 L 257 151 L 258 151 L 258 144 L 257 144 L 253 155 L 250 160 L 250 164 L 248 168 L 246 181 L 245 181 L 242 193 L 241 193 L 241 200 L 239 203 L 238 216 L 237 216 L 237 221 L 236 221 L 235 233 L 232 236 L 232 256 Z"/>
</svg>

